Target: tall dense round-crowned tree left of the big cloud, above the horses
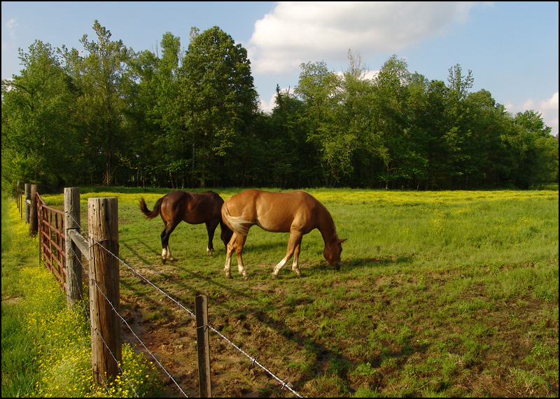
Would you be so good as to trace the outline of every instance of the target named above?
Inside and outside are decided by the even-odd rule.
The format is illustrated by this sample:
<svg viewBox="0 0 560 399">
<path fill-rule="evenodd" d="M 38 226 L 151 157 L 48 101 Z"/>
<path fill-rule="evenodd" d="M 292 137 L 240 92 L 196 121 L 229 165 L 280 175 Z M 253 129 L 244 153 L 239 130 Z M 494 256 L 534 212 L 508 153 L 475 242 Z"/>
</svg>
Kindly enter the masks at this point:
<svg viewBox="0 0 560 399">
<path fill-rule="evenodd" d="M 193 172 L 207 181 L 231 181 L 241 169 L 257 92 L 247 51 L 219 27 L 193 31 L 181 66 L 186 137 L 193 144 Z M 222 172 L 225 171 L 225 172 Z"/>
</svg>

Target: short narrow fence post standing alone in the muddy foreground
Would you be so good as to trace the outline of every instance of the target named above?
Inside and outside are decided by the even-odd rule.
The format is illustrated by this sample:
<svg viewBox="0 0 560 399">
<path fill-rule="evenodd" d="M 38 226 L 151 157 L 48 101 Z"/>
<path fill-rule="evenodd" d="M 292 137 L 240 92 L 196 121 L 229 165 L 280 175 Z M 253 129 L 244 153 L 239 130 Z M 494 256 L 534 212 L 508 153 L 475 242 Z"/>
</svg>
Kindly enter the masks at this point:
<svg viewBox="0 0 560 399">
<path fill-rule="evenodd" d="M 197 318 L 198 381 L 201 398 L 212 397 L 210 378 L 210 343 L 208 340 L 208 302 L 207 297 L 195 297 Z"/>
</svg>

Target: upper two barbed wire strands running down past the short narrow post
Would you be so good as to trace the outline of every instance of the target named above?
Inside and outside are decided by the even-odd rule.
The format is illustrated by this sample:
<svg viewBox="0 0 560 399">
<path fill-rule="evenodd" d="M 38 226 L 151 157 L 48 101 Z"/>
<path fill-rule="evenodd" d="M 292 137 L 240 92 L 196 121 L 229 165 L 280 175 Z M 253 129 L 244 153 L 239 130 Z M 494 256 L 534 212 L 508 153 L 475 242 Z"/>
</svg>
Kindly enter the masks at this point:
<svg viewBox="0 0 560 399">
<path fill-rule="evenodd" d="M 120 259 L 118 257 L 118 255 L 115 255 L 114 253 L 112 253 L 111 251 L 109 251 L 109 249 L 107 249 L 105 246 L 103 246 L 101 244 L 101 242 L 95 240 L 94 238 L 90 237 L 89 235 L 87 235 L 87 232 L 85 232 L 85 230 L 83 230 L 82 226 L 68 213 L 66 213 L 73 221 L 74 223 L 76 223 L 76 225 L 78 226 L 78 228 L 80 228 L 80 230 L 83 232 L 83 234 L 88 238 L 91 239 L 91 241 L 93 241 L 94 245 L 99 245 L 101 246 L 104 251 L 106 251 L 107 253 L 109 253 L 111 256 L 113 256 L 113 258 L 115 258 L 116 260 L 118 260 L 118 262 L 120 262 L 121 265 L 124 265 L 125 267 L 127 267 L 128 269 L 130 269 L 130 271 L 139 276 L 141 279 L 143 279 L 144 281 L 146 281 L 146 283 L 150 284 L 151 286 L 153 286 L 153 288 L 155 288 L 156 290 L 158 290 L 160 293 L 162 293 L 162 295 L 164 295 L 165 297 L 169 298 L 169 300 L 172 300 L 172 302 L 174 302 L 175 304 L 177 304 L 181 309 L 183 309 L 184 311 L 186 311 L 190 316 L 192 317 L 196 317 L 196 315 L 193 313 L 193 311 L 190 311 L 189 309 L 187 309 L 185 306 L 183 306 L 183 304 L 181 304 L 181 302 L 175 300 L 171 295 L 169 295 L 168 293 L 166 293 L 164 290 L 162 290 L 160 287 L 156 286 L 154 283 L 152 283 L 150 280 L 148 280 L 145 276 L 143 276 L 142 274 L 140 274 L 139 272 L 137 272 L 136 269 L 134 269 L 134 267 L 128 265 L 124 260 Z M 91 246 L 90 246 L 91 247 Z M 96 286 L 97 286 L 97 281 L 95 282 Z M 101 291 L 101 288 L 98 289 Z M 103 293 L 102 293 L 103 294 Z M 103 294 L 104 295 L 104 294 Z M 105 295 L 104 295 L 105 296 Z M 111 302 L 109 302 L 111 303 Z M 111 304 L 111 307 L 113 307 L 113 305 Z M 121 318 L 121 320 L 123 320 L 123 322 L 127 325 L 127 327 L 130 329 L 130 331 L 132 332 L 132 334 L 134 335 L 134 337 L 136 337 L 138 339 L 138 341 L 141 343 L 142 346 L 144 346 L 144 348 L 146 349 L 146 351 L 148 351 L 148 353 L 150 353 L 150 355 L 154 358 L 154 360 L 156 362 L 158 362 L 158 365 L 160 365 L 160 367 L 162 368 L 162 370 L 164 370 L 164 372 L 169 376 L 170 379 L 172 379 L 172 381 L 174 381 L 174 383 L 178 386 L 179 390 L 181 391 L 181 393 L 183 393 L 183 395 L 186 395 L 186 393 L 183 392 L 183 390 L 181 389 L 181 387 L 179 386 L 179 384 L 176 383 L 176 381 L 172 378 L 172 376 L 169 374 L 169 372 L 167 372 L 167 370 L 165 370 L 165 367 L 158 361 L 157 358 L 155 358 L 155 356 L 153 355 L 153 353 L 151 353 L 151 351 L 148 350 L 148 348 L 146 347 L 146 345 L 144 344 L 144 342 L 141 341 L 141 339 L 134 333 L 134 331 L 132 330 L 132 328 L 130 328 L 130 325 L 128 325 L 128 323 L 125 321 L 125 319 L 120 316 L 120 314 L 118 314 L 118 312 L 116 311 L 116 309 L 113 310 L 116 312 L 116 314 L 118 315 L 119 318 Z M 230 344 L 231 346 L 233 346 L 235 349 L 237 349 L 239 352 L 241 352 L 244 356 L 246 356 L 249 360 L 251 360 L 251 364 L 253 365 L 258 365 L 258 367 L 260 367 L 262 370 L 264 370 L 265 372 L 267 372 L 270 376 L 272 376 L 274 379 L 276 379 L 276 381 L 279 381 L 279 383 L 281 384 L 281 389 L 283 388 L 288 388 L 288 390 L 293 393 L 294 395 L 296 395 L 298 398 L 302 398 L 302 395 L 300 395 L 299 393 L 297 393 L 296 391 L 293 390 L 293 388 L 291 388 L 291 384 L 290 383 L 286 383 L 286 379 L 280 379 L 279 377 L 276 377 L 276 375 L 274 373 L 272 373 L 270 370 L 267 369 L 267 367 L 265 367 L 264 365 L 262 365 L 261 363 L 259 363 L 257 361 L 256 358 L 251 357 L 248 353 L 246 353 L 245 351 L 243 351 L 241 348 L 239 348 L 239 346 L 237 346 L 235 343 L 233 343 L 230 339 L 228 339 L 227 337 L 225 337 L 225 335 L 221 334 L 221 332 L 219 332 L 218 330 L 216 330 L 216 328 L 214 328 L 214 326 L 212 325 L 207 325 L 207 327 L 216 332 L 216 334 L 218 334 L 222 339 L 224 339 L 226 342 L 228 342 L 228 344 Z"/>
</svg>

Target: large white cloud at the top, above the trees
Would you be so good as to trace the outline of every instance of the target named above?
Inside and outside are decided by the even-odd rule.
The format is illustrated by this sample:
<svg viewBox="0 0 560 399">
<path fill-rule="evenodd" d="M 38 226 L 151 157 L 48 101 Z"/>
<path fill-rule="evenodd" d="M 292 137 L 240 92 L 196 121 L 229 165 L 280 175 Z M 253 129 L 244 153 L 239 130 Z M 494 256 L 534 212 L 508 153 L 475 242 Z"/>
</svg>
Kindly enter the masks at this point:
<svg viewBox="0 0 560 399">
<path fill-rule="evenodd" d="M 346 64 L 349 48 L 396 52 L 465 22 L 461 1 L 281 1 L 255 22 L 247 45 L 254 73 L 290 73 L 309 59 Z"/>
</svg>

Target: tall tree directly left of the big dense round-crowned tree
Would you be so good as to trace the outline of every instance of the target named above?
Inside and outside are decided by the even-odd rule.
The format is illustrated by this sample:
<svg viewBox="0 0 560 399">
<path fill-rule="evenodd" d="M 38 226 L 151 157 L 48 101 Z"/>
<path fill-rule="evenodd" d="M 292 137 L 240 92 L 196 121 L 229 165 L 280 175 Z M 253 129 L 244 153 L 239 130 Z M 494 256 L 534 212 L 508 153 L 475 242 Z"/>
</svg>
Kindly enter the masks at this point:
<svg viewBox="0 0 560 399">
<path fill-rule="evenodd" d="M 181 109 L 179 66 L 180 38 L 167 32 L 162 36 L 162 57 L 144 51 L 130 60 L 133 73 L 128 100 L 129 131 L 134 131 L 127 163 L 137 171 L 142 184 L 176 188 L 184 186 L 188 174 L 188 141 Z M 138 178 L 136 179 L 138 181 Z M 179 183 L 181 181 L 181 183 Z"/>
</svg>

